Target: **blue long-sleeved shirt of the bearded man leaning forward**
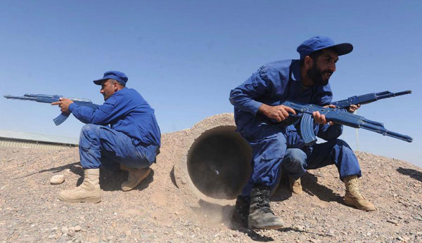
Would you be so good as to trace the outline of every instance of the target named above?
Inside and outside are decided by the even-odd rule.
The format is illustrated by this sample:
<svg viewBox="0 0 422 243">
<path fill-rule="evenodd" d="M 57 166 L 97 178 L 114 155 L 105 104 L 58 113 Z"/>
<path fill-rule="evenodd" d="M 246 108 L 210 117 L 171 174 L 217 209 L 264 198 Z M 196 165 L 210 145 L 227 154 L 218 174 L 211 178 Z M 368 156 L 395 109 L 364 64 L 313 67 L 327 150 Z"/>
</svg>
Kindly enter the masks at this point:
<svg viewBox="0 0 422 243">
<path fill-rule="evenodd" d="M 289 100 L 324 106 L 332 99 L 329 84 L 309 88 L 302 85 L 299 60 L 280 60 L 263 65 L 243 84 L 231 90 L 229 98 L 234 105 L 238 131 L 248 140 L 262 138 L 265 130 L 276 125 L 257 112 L 262 103 L 274 106 Z"/>
</svg>

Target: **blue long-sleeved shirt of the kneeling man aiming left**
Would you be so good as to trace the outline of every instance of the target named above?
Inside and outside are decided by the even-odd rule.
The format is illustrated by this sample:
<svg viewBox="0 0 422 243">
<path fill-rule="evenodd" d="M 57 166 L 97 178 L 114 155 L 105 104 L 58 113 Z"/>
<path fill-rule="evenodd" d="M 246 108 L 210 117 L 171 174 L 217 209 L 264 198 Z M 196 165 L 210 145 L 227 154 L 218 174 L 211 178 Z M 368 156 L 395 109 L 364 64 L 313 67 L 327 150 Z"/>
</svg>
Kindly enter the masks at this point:
<svg viewBox="0 0 422 243">
<path fill-rule="evenodd" d="M 160 147 L 160 128 L 153 108 L 133 88 L 122 88 L 97 109 L 70 104 L 69 111 L 85 124 L 107 126 L 132 138 L 134 145 Z"/>
</svg>

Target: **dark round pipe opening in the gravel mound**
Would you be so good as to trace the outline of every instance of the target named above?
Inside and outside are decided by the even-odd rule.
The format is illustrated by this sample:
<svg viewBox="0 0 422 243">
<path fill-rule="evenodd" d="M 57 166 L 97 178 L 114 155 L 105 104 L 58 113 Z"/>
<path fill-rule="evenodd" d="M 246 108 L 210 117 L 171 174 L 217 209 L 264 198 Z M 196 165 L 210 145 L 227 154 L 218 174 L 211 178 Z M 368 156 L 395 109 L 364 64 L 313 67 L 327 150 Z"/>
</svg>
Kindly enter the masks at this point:
<svg viewBox="0 0 422 243">
<path fill-rule="evenodd" d="M 236 126 L 218 126 L 202 133 L 188 152 L 188 175 L 208 197 L 235 199 L 248 182 L 252 150 Z"/>
</svg>

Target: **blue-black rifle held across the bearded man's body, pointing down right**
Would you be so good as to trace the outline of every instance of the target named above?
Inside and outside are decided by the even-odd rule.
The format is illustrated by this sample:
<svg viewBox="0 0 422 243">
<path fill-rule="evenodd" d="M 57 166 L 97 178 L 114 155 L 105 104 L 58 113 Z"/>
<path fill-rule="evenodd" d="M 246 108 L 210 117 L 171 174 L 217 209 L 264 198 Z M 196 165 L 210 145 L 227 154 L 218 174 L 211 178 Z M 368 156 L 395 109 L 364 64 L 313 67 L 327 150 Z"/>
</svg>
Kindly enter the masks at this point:
<svg viewBox="0 0 422 243">
<path fill-rule="evenodd" d="M 316 136 L 314 134 L 314 121 L 312 112 L 319 112 L 324 114 L 327 121 L 333 121 L 336 124 L 342 124 L 345 126 L 351 126 L 356 129 L 362 128 L 376 133 L 381 133 L 384 136 L 390 136 L 392 138 L 398 138 L 411 143 L 413 138 L 393 131 L 385 129 L 384 124 L 378 121 L 371 121 L 365 119 L 357 114 L 352 114 L 342 110 L 340 108 L 324 108 L 319 105 L 304 105 L 300 103 L 293 103 L 285 101 L 281 105 L 292 107 L 296 111 L 296 115 L 292 115 L 300 120 L 300 136 L 305 141 L 305 145 L 312 145 L 316 142 Z M 289 116 L 290 117 L 290 116 Z"/>
</svg>

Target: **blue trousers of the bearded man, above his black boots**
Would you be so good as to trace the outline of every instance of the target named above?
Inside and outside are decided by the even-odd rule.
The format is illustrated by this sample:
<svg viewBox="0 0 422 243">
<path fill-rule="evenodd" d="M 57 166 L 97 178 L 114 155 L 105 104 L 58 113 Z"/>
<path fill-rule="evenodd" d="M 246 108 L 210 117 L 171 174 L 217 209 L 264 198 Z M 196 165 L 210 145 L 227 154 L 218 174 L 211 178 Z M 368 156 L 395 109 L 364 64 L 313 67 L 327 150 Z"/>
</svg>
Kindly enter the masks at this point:
<svg viewBox="0 0 422 243">
<path fill-rule="evenodd" d="M 260 138 L 248 140 L 252 147 L 252 174 L 243 187 L 242 196 L 249 197 L 254 185 L 267 185 L 272 190 L 278 183 L 287 150 L 286 135 L 281 130 L 284 129 L 273 126 L 262 131 Z"/>
</svg>

